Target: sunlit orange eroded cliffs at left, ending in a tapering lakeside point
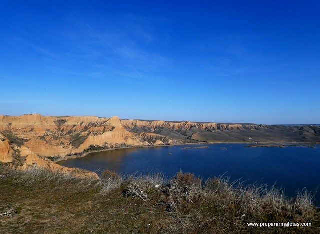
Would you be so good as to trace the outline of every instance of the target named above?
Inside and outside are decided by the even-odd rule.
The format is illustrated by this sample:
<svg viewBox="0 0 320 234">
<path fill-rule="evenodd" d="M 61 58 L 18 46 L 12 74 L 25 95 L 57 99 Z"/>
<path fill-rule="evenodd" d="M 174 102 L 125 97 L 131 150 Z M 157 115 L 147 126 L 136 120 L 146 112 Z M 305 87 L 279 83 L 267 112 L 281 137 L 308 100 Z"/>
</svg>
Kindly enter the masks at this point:
<svg viewBox="0 0 320 234">
<path fill-rule="evenodd" d="M 70 172 L 72 168 L 61 167 L 49 159 L 96 149 L 184 142 L 189 141 L 129 131 L 117 116 L 0 115 L 0 162 L 22 170 L 41 167 Z"/>
</svg>

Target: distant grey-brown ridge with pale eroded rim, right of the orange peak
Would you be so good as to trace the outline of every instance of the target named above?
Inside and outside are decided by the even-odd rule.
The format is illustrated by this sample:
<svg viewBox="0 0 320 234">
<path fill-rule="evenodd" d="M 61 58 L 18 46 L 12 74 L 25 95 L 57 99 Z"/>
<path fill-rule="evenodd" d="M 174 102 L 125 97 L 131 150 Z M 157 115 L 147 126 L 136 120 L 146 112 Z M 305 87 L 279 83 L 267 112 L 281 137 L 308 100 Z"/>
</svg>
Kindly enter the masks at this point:
<svg viewBox="0 0 320 234">
<path fill-rule="evenodd" d="M 190 142 L 320 142 L 320 126 L 312 125 L 284 126 L 140 120 L 121 120 L 121 124 L 128 131 L 140 134 L 143 140 L 150 137 L 150 134 L 155 134 L 157 137 L 161 135 L 163 139 L 174 138 Z"/>
</svg>

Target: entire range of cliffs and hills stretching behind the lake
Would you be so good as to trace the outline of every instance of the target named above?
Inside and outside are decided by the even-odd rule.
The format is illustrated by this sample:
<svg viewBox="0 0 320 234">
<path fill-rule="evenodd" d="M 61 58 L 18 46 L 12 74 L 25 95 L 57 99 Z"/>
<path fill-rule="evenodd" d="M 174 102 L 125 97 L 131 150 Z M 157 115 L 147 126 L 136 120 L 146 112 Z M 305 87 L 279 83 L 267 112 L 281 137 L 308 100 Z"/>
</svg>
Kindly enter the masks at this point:
<svg viewBox="0 0 320 234">
<path fill-rule="evenodd" d="M 207 142 L 320 142 L 319 126 L 120 120 L 117 116 L 0 115 L 0 162 L 68 171 L 47 158 L 90 150 Z"/>
</svg>

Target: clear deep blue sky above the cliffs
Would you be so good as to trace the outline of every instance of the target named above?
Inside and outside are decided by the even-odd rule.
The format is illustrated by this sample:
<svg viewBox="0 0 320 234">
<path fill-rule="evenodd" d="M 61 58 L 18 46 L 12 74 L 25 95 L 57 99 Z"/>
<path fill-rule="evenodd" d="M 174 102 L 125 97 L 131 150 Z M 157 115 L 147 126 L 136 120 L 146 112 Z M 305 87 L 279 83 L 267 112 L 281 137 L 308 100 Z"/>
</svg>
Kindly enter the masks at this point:
<svg viewBox="0 0 320 234">
<path fill-rule="evenodd" d="M 320 123 L 320 1 L 0 1 L 0 114 Z"/>
</svg>

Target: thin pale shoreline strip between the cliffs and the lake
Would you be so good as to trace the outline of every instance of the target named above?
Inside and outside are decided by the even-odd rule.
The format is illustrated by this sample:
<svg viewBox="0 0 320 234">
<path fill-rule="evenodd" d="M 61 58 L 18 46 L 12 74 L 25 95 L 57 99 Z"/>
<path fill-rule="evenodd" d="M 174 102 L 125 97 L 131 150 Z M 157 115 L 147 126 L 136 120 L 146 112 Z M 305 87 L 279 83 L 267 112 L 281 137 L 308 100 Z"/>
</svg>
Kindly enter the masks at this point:
<svg viewBox="0 0 320 234">
<path fill-rule="evenodd" d="M 183 145 L 193 145 L 193 144 L 254 144 L 257 145 L 256 147 L 259 147 L 259 144 L 313 144 L 313 145 L 318 145 L 320 146 L 320 142 L 196 142 L 196 143 L 184 143 L 184 144 L 170 144 L 170 145 L 142 145 L 142 146 L 129 146 L 129 147 L 118 147 L 118 148 L 109 148 L 109 149 L 103 149 L 103 150 L 95 150 L 95 151 L 90 151 L 90 152 L 86 152 L 83 153 L 81 156 L 68 156 L 68 157 L 63 157 L 57 160 L 53 160 L 53 163 L 59 162 L 59 161 L 66 161 L 68 159 L 74 159 L 74 158 L 81 158 L 81 157 L 85 157 L 86 155 L 90 154 L 90 153 L 96 153 L 96 152 L 104 152 L 104 151 L 109 151 L 109 150 L 116 150 L 116 149 L 125 149 L 125 148 L 146 148 L 146 147 L 170 147 L 170 146 L 183 146 Z M 246 146 L 248 147 L 248 146 Z M 263 147 L 263 146 L 261 146 Z M 265 146 L 264 146 L 265 147 Z"/>
</svg>

